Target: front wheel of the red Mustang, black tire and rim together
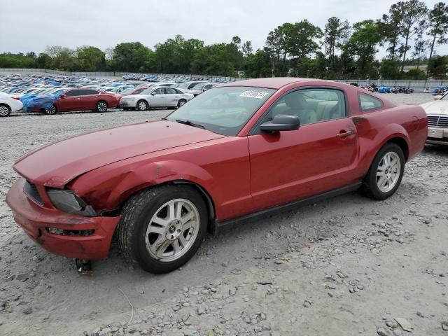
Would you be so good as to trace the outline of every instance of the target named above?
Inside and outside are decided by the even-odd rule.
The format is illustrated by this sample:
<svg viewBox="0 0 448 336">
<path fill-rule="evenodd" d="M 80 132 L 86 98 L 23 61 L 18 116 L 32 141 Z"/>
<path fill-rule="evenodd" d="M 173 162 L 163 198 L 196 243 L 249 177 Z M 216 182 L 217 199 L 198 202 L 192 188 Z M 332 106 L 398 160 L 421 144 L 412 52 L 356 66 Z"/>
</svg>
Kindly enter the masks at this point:
<svg viewBox="0 0 448 336">
<path fill-rule="evenodd" d="M 126 202 L 117 228 L 118 244 L 125 258 L 145 271 L 172 272 L 195 255 L 207 224 L 207 205 L 193 187 L 156 186 Z"/>
</svg>

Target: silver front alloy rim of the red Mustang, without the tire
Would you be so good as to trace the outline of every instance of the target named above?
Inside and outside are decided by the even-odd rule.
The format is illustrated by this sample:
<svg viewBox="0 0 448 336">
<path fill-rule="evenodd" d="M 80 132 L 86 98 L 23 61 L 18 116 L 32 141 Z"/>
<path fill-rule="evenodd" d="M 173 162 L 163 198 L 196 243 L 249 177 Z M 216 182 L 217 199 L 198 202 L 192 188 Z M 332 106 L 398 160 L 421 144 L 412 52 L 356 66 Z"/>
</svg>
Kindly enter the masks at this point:
<svg viewBox="0 0 448 336">
<path fill-rule="evenodd" d="M 177 260 L 193 246 L 199 226 L 199 211 L 192 202 L 171 200 L 155 211 L 148 223 L 146 248 L 161 262 Z"/>
</svg>

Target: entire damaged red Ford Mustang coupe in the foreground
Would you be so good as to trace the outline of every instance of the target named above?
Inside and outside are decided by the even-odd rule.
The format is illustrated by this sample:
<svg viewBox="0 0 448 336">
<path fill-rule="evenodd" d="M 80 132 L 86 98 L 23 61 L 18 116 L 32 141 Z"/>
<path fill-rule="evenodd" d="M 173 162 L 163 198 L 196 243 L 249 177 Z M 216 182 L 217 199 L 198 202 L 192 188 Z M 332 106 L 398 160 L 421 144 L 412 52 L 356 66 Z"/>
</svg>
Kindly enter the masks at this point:
<svg viewBox="0 0 448 336">
<path fill-rule="evenodd" d="M 215 87 L 164 120 L 58 141 L 15 162 L 6 201 L 52 253 L 102 259 L 116 232 L 149 272 L 192 258 L 207 230 L 360 188 L 395 193 L 423 148 L 419 106 L 351 85 L 264 78 Z"/>
</svg>

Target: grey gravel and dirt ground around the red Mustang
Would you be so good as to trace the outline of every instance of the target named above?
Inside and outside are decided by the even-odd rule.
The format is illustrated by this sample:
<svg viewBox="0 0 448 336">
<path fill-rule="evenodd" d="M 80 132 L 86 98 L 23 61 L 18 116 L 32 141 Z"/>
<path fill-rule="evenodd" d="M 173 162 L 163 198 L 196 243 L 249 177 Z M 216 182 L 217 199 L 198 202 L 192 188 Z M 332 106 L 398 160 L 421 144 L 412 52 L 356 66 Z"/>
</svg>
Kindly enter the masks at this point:
<svg viewBox="0 0 448 336">
<path fill-rule="evenodd" d="M 427 146 L 384 202 L 351 193 L 231 228 L 160 276 L 128 265 L 115 245 L 80 276 L 15 225 L 3 200 L 20 155 L 166 114 L 0 120 L 0 335 L 448 335 L 448 148 Z"/>
</svg>

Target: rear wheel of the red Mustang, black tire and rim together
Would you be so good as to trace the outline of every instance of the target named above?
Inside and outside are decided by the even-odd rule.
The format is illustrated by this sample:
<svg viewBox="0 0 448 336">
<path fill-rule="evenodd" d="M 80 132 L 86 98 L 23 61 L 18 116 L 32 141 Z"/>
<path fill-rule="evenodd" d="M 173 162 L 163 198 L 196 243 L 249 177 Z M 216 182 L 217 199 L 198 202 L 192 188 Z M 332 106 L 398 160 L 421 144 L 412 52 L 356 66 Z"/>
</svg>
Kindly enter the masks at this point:
<svg viewBox="0 0 448 336">
<path fill-rule="evenodd" d="M 405 155 L 397 144 L 384 145 L 372 162 L 362 191 L 374 200 L 386 200 L 395 193 L 405 171 Z"/>
</svg>

